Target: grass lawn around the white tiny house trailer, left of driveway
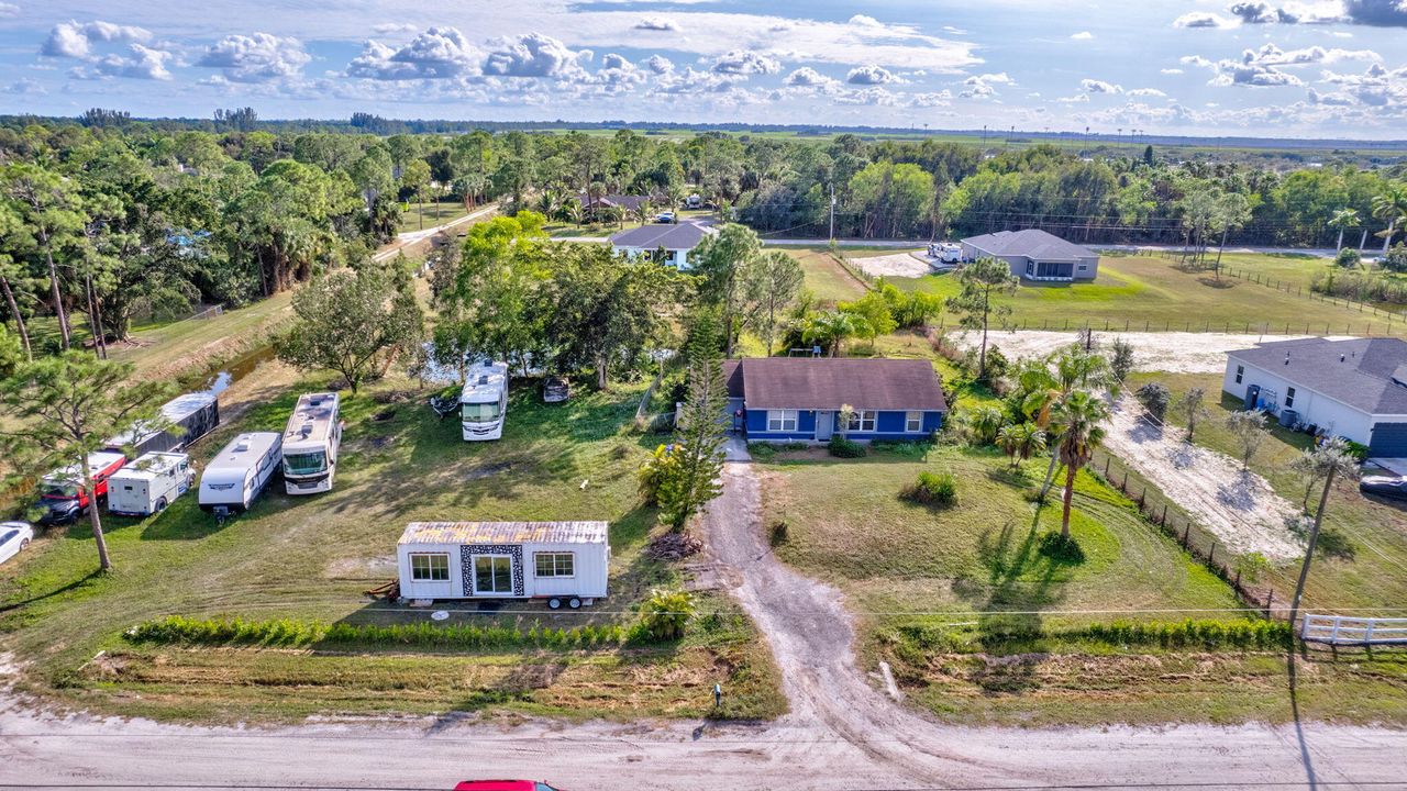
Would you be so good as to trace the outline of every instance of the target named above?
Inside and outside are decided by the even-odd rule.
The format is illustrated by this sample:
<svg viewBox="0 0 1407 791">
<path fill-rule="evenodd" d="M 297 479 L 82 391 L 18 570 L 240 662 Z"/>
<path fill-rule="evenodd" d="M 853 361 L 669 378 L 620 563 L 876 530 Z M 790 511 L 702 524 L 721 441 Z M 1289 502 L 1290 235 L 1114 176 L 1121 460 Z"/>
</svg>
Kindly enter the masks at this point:
<svg viewBox="0 0 1407 791">
<path fill-rule="evenodd" d="M 253 407 L 201 443 L 200 462 L 238 431 L 281 429 L 297 393 L 329 384 L 312 377 Z M 411 383 L 343 393 L 346 434 L 333 491 L 290 497 L 272 487 L 224 526 L 193 495 L 155 518 L 108 518 L 115 570 L 106 576 L 93 573 L 86 525 L 58 529 L 0 570 L 0 652 L 14 652 L 25 667 L 25 691 L 174 719 L 461 709 L 633 718 L 635 707 L 699 716 L 712 705 L 704 692 L 713 683 L 739 695 L 730 716 L 779 714 L 775 669 L 746 619 L 678 645 L 553 652 L 298 653 L 132 646 L 121 638 L 165 615 L 426 621 L 425 609 L 363 595 L 394 578 L 395 540 L 415 519 L 606 519 L 611 595 L 597 607 L 561 615 L 542 604 L 497 615 L 454 607 L 450 624 L 630 624 L 650 588 L 678 583 L 673 566 L 643 553 L 654 514 L 640 505 L 635 470 L 658 438 L 623 428 L 642 390 L 582 391 L 567 405 L 547 407 L 525 388 L 514 394 L 504 439 L 485 443 L 463 442 L 457 421 L 439 421 L 424 403 L 428 391 Z M 730 607 L 701 602 L 702 612 Z M 98 650 L 108 659 L 89 663 Z M 636 680 L 640 688 L 630 690 Z"/>
</svg>

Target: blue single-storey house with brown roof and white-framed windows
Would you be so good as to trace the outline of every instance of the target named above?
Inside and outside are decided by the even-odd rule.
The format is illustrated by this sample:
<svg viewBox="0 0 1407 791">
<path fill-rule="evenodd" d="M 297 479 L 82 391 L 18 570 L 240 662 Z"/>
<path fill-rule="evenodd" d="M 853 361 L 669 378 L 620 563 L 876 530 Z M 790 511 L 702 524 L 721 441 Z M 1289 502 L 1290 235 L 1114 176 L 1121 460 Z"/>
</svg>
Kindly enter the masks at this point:
<svg viewBox="0 0 1407 791">
<path fill-rule="evenodd" d="M 923 439 L 948 411 L 929 360 L 747 357 L 725 360 L 723 374 L 729 412 L 754 441 Z"/>
</svg>

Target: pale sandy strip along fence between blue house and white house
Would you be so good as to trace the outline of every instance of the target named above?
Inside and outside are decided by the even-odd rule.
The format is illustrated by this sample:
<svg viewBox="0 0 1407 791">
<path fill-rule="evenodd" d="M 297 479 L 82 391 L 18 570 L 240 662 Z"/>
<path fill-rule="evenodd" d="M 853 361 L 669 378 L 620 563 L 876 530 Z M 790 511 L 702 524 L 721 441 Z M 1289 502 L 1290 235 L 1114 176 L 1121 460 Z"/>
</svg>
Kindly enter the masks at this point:
<svg viewBox="0 0 1407 791">
<path fill-rule="evenodd" d="M 1233 553 L 1259 552 L 1271 562 L 1304 555 L 1285 521 L 1294 505 L 1235 459 L 1182 441 L 1183 431 L 1157 426 L 1123 397 L 1114 405 L 1104 446 L 1211 531 Z"/>
</svg>

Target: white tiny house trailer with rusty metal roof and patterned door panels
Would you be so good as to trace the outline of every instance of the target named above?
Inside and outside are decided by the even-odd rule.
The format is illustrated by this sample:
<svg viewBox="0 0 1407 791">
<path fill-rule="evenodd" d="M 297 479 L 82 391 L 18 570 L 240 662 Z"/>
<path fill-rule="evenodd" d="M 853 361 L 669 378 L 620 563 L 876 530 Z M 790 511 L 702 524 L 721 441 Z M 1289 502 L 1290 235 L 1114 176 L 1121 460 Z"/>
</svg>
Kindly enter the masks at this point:
<svg viewBox="0 0 1407 791">
<path fill-rule="evenodd" d="M 411 522 L 395 546 L 401 595 L 545 598 L 575 609 L 606 595 L 605 522 Z"/>
</svg>

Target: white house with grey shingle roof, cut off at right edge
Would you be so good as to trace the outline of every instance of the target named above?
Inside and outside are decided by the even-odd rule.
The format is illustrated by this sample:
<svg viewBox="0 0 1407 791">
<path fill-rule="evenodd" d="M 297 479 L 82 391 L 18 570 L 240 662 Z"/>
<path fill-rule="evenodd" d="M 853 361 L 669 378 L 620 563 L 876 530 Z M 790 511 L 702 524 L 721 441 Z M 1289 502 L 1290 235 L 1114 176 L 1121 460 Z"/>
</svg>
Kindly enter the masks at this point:
<svg viewBox="0 0 1407 791">
<path fill-rule="evenodd" d="M 1407 457 L 1407 342 L 1396 338 L 1275 341 L 1227 352 L 1221 390 L 1285 425 L 1311 425 Z"/>
</svg>

